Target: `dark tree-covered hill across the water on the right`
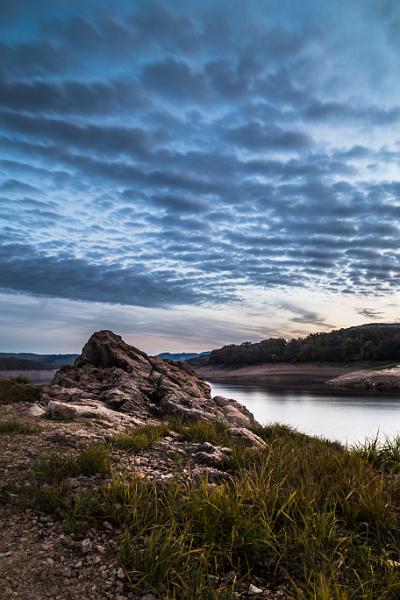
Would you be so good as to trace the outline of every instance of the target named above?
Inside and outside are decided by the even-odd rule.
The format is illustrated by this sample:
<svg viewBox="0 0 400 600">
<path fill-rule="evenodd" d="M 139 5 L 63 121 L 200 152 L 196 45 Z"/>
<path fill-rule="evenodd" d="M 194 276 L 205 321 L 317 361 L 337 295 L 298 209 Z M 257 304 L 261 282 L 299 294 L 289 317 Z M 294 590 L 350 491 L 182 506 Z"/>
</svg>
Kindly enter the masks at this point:
<svg viewBox="0 0 400 600">
<path fill-rule="evenodd" d="M 271 362 L 400 362 L 400 323 L 380 323 L 313 333 L 305 338 L 270 338 L 213 350 L 208 364 L 243 366 Z"/>
</svg>

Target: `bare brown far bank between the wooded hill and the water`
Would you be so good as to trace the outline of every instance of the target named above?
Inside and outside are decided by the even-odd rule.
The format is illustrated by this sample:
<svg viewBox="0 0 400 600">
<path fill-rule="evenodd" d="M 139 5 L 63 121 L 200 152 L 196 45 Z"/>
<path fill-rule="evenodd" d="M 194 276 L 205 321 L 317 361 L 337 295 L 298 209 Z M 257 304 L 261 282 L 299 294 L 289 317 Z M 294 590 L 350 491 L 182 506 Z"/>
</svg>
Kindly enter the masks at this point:
<svg viewBox="0 0 400 600">
<path fill-rule="evenodd" d="M 379 366 L 382 363 L 379 364 Z M 371 364 L 318 364 L 318 363 L 267 363 L 247 367 L 217 367 L 214 365 L 196 367 L 200 377 L 211 382 L 232 382 L 268 385 L 271 387 L 313 387 L 326 384 L 330 379 L 353 373 L 354 371 L 378 368 Z"/>
</svg>

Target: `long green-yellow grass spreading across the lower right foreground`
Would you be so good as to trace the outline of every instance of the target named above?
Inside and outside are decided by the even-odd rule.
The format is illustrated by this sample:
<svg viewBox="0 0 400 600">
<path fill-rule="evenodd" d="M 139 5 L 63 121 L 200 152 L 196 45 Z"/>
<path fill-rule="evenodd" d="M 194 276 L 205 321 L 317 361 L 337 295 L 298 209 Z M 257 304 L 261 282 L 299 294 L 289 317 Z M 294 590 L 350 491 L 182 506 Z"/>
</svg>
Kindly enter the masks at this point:
<svg viewBox="0 0 400 600">
<path fill-rule="evenodd" d="M 226 435 L 219 425 L 173 426 L 190 441 Z M 40 506 L 76 530 L 119 527 L 132 586 L 165 600 L 228 600 L 251 575 L 285 583 L 300 600 L 398 599 L 399 444 L 348 450 L 277 425 L 257 433 L 266 449 L 243 451 L 235 477 L 218 486 L 118 477 L 65 494 L 63 478 L 98 469 L 97 451 L 52 459 L 33 470 L 48 482 Z"/>
</svg>

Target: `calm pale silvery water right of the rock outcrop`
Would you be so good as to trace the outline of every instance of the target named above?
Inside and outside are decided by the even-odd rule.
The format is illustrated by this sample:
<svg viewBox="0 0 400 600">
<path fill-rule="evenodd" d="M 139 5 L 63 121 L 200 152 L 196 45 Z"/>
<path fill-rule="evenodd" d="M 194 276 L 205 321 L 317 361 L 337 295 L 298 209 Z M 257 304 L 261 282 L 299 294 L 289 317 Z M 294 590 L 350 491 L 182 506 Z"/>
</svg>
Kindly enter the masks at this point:
<svg viewBox="0 0 400 600">
<path fill-rule="evenodd" d="M 235 398 L 262 424 L 285 423 L 304 433 L 353 444 L 400 435 L 400 395 L 382 396 L 268 389 L 243 383 L 211 383 L 213 395 Z"/>
</svg>

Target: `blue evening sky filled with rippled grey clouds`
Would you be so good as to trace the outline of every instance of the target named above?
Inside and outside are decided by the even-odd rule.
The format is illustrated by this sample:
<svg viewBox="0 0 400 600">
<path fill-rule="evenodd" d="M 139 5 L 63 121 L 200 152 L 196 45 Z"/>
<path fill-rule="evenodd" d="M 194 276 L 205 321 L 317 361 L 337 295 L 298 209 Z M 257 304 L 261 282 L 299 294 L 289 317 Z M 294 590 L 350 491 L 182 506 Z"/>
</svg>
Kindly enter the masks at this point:
<svg viewBox="0 0 400 600">
<path fill-rule="evenodd" d="M 0 0 L 0 350 L 398 321 L 400 4 Z"/>
</svg>

